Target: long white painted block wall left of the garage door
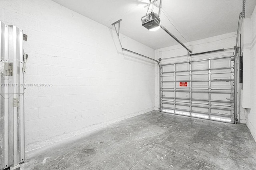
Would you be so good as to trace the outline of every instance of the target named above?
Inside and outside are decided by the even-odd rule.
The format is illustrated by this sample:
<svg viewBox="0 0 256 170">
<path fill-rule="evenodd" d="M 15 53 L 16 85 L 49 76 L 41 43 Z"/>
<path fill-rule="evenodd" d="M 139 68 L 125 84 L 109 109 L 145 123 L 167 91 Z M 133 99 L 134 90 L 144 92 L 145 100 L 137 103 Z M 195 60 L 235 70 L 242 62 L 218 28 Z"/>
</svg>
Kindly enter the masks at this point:
<svg viewBox="0 0 256 170">
<path fill-rule="evenodd" d="M 51 0 L 1 0 L 0 20 L 28 35 L 26 150 L 154 110 L 154 62 L 122 53 L 115 31 Z M 122 26 L 122 23 L 121 23 Z M 154 50 L 120 35 L 123 46 Z"/>
</svg>

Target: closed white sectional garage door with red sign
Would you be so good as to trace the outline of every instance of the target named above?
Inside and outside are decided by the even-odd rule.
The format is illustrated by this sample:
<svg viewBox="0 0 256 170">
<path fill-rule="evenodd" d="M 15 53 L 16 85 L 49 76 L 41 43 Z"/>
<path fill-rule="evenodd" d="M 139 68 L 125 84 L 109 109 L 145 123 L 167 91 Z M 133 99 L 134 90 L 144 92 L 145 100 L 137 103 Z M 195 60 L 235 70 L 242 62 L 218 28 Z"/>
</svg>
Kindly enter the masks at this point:
<svg viewBox="0 0 256 170">
<path fill-rule="evenodd" d="M 234 123 L 234 55 L 161 60 L 160 111 Z"/>
</svg>

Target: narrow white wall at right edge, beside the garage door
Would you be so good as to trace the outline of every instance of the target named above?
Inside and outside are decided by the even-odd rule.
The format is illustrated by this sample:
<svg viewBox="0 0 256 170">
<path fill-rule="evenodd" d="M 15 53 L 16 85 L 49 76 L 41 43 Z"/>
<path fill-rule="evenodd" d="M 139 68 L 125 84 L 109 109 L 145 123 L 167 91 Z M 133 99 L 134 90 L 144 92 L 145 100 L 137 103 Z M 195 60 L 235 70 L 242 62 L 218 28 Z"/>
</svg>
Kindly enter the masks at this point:
<svg viewBox="0 0 256 170">
<path fill-rule="evenodd" d="M 241 91 L 241 96 L 243 96 L 241 109 L 247 117 L 246 125 L 256 141 L 256 7 L 252 17 L 243 20 L 241 34 L 244 41 L 242 45 L 244 81 Z"/>
</svg>

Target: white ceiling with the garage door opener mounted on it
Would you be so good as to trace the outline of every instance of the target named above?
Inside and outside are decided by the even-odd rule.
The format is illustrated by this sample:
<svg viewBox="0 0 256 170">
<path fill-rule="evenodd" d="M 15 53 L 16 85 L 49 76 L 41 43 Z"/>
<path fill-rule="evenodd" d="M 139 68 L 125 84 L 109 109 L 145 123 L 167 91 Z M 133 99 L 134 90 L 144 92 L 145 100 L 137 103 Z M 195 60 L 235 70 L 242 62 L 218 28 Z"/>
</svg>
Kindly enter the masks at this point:
<svg viewBox="0 0 256 170">
<path fill-rule="evenodd" d="M 149 0 L 53 1 L 107 27 L 122 19 L 120 33 L 152 49 L 178 44 L 164 30 L 148 31 L 142 26 L 141 17 Z M 250 18 L 255 5 L 256 0 L 246 0 L 246 18 Z M 153 11 L 158 13 L 158 8 Z M 161 25 L 186 43 L 236 31 L 240 12 L 242 0 L 162 0 L 160 19 Z"/>
</svg>

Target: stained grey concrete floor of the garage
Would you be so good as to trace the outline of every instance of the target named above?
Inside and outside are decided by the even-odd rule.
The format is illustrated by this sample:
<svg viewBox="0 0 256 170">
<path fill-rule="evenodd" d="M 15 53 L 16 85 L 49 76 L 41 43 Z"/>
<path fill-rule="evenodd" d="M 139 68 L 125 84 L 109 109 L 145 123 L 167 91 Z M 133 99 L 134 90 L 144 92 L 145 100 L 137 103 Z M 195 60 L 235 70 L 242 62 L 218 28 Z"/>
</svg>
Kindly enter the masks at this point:
<svg viewBox="0 0 256 170">
<path fill-rule="evenodd" d="M 22 170 L 256 170 L 256 143 L 244 124 L 152 111 L 26 158 Z"/>
</svg>

